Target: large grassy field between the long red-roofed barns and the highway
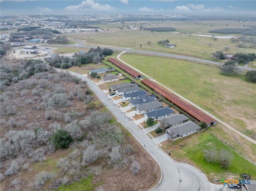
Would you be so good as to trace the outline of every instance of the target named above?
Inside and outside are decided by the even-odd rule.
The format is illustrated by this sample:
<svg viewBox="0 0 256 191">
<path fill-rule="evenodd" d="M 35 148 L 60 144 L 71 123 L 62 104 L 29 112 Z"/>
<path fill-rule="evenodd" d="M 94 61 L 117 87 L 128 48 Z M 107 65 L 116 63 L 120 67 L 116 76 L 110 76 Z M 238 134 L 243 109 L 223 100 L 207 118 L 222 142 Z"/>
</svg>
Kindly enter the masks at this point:
<svg viewBox="0 0 256 191">
<path fill-rule="evenodd" d="M 248 134 L 256 124 L 256 86 L 244 75 L 226 76 L 219 68 L 167 58 L 124 54 L 121 59 Z"/>
</svg>

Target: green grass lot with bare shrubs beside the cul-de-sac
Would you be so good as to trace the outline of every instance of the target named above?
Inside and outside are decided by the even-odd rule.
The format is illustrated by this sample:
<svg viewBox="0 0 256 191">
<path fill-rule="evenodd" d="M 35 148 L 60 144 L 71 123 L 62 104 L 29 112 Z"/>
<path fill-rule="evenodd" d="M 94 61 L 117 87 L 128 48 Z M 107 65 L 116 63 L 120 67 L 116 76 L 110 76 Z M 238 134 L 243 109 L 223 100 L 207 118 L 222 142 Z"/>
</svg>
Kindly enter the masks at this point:
<svg viewBox="0 0 256 191">
<path fill-rule="evenodd" d="M 183 145 L 182 147 L 180 146 L 181 144 Z M 169 140 L 162 145 L 165 151 L 170 151 L 172 157 L 179 160 L 189 159 L 192 161 L 193 164 L 206 174 L 210 181 L 213 181 L 214 177 L 219 179 L 241 179 L 241 173 L 249 173 L 252 175 L 252 179 L 256 179 L 256 166 L 254 164 L 238 155 L 234 150 L 227 147 L 208 132 L 193 134 L 176 141 Z M 219 163 L 207 163 L 202 151 L 210 148 L 216 148 L 216 150 L 226 149 L 231 152 L 234 159 L 230 167 L 222 169 Z"/>
</svg>

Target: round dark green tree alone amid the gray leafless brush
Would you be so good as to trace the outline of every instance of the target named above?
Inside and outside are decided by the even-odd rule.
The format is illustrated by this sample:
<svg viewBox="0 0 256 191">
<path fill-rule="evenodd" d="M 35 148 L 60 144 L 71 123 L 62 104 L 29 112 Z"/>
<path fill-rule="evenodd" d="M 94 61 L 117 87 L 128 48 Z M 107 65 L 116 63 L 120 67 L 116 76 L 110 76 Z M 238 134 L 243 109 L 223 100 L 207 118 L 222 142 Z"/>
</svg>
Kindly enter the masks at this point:
<svg viewBox="0 0 256 191">
<path fill-rule="evenodd" d="M 52 135 L 51 141 L 56 148 L 65 150 L 73 142 L 73 138 L 67 131 L 59 129 Z"/>
</svg>

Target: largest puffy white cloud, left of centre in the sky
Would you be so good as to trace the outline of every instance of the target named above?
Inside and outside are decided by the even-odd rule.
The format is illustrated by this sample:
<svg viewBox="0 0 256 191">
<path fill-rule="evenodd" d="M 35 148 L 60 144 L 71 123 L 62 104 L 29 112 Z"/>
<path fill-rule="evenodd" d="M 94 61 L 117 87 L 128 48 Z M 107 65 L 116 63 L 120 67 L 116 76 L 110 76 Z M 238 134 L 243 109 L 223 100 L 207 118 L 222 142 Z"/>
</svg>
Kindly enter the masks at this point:
<svg viewBox="0 0 256 191">
<path fill-rule="evenodd" d="M 85 0 L 85 1 L 82 1 L 81 4 L 69 5 L 69 6 L 66 6 L 64 9 L 68 11 L 77 11 L 77 10 L 84 10 L 84 9 L 96 10 L 96 11 L 111 11 L 111 10 L 114 10 L 115 8 L 110 6 L 109 4 L 100 4 L 100 3 L 94 2 L 93 0 Z"/>
</svg>

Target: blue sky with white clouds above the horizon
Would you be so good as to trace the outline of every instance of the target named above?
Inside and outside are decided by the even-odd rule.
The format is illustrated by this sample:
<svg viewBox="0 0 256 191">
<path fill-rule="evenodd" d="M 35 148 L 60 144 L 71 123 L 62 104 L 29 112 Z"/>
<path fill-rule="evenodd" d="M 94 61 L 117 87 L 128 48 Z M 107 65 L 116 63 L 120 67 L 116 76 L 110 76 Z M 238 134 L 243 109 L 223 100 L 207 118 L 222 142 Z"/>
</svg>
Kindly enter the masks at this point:
<svg viewBox="0 0 256 191">
<path fill-rule="evenodd" d="M 29 14 L 256 15 L 255 0 L 0 0 L 0 15 Z"/>
</svg>

